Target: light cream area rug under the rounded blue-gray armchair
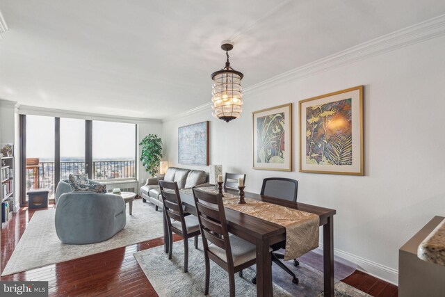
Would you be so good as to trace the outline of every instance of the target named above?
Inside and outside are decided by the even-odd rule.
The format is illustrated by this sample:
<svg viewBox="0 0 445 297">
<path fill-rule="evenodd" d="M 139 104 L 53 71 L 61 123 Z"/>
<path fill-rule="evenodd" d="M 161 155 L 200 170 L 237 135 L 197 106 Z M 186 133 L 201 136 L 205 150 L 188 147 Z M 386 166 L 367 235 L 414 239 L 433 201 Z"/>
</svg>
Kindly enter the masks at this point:
<svg viewBox="0 0 445 297">
<path fill-rule="evenodd" d="M 162 211 L 154 211 L 153 204 L 133 201 L 133 215 L 127 210 L 127 225 L 107 241 L 86 245 L 61 243 L 54 226 L 55 209 L 35 211 L 2 276 L 28 271 L 32 268 L 65 262 L 71 259 L 113 250 L 163 236 Z"/>
</svg>

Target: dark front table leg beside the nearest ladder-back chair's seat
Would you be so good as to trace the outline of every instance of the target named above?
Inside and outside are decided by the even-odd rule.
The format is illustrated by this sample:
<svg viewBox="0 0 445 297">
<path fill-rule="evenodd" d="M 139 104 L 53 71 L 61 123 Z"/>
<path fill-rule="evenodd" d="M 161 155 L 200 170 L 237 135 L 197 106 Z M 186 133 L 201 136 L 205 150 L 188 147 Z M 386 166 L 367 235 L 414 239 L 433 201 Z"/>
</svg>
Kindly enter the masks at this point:
<svg viewBox="0 0 445 297">
<path fill-rule="evenodd" d="M 267 240 L 257 239 L 257 296 L 273 296 L 272 259 Z"/>
</svg>

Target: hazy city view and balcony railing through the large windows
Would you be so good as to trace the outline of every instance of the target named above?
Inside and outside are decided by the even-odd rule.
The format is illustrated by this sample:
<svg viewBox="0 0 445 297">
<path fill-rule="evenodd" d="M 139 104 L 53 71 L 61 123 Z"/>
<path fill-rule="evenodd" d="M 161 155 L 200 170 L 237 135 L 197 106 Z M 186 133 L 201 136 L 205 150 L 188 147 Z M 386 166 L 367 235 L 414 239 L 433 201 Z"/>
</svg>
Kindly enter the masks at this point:
<svg viewBox="0 0 445 297">
<path fill-rule="evenodd" d="M 45 188 L 54 198 L 56 120 L 26 115 L 26 191 Z M 86 121 L 60 118 L 60 179 L 86 173 Z M 136 177 L 136 126 L 92 121 L 92 176 L 90 179 Z"/>
</svg>

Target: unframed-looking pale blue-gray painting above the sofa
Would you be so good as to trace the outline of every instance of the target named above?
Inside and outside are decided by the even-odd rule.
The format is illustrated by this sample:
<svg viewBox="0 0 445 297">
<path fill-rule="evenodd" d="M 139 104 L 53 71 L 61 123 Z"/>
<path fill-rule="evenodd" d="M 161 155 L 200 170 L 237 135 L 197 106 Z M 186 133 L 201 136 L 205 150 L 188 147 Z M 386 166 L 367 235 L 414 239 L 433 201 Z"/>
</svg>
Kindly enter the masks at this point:
<svg viewBox="0 0 445 297">
<path fill-rule="evenodd" d="M 178 163 L 209 166 L 209 121 L 178 128 Z"/>
</svg>

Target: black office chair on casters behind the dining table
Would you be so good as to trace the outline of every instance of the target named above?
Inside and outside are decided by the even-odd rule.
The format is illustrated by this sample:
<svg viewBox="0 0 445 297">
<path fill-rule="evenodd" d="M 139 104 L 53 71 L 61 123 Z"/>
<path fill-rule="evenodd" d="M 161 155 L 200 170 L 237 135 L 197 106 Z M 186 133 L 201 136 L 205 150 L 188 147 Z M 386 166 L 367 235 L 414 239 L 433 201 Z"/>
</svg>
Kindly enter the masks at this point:
<svg viewBox="0 0 445 297">
<path fill-rule="evenodd" d="M 273 198 L 289 200 L 297 202 L 298 182 L 295 179 L 287 179 L 282 177 L 270 177 L 263 179 L 263 186 L 261 186 L 261 195 L 270 196 Z M 284 255 L 275 252 L 281 248 L 286 248 L 285 242 L 276 243 L 272 248 L 272 262 L 280 266 L 286 273 L 292 276 L 292 282 L 298 284 L 298 278 L 289 268 L 284 265 L 280 259 L 284 259 Z M 300 263 L 297 259 L 293 259 L 293 265 L 298 266 Z M 252 278 L 254 284 L 257 283 L 257 276 Z"/>
</svg>

